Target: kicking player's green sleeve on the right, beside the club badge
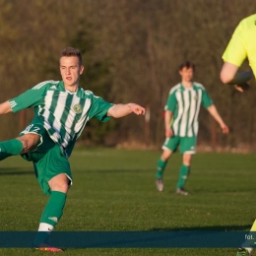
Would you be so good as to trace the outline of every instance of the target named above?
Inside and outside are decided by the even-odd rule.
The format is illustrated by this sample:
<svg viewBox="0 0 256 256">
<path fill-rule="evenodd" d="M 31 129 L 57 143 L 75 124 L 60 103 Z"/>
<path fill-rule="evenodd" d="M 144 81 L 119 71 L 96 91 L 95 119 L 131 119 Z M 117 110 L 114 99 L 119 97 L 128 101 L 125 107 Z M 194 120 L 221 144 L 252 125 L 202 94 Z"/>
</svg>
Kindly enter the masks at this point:
<svg viewBox="0 0 256 256">
<path fill-rule="evenodd" d="M 106 102 L 102 97 L 100 96 L 92 96 L 92 107 L 89 111 L 89 118 L 96 118 L 97 120 L 101 122 L 108 121 L 111 116 L 107 116 L 108 109 L 113 106 L 112 103 Z"/>
</svg>

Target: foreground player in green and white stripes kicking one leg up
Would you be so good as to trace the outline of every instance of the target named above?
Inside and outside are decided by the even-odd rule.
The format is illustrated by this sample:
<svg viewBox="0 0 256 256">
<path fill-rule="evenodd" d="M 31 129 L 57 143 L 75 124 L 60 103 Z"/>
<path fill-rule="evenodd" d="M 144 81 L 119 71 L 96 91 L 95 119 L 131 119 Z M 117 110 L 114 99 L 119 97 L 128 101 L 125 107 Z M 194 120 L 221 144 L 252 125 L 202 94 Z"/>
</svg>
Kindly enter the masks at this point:
<svg viewBox="0 0 256 256">
<path fill-rule="evenodd" d="M 87 122 L 96 118 L 105 122 L 130 113 L 144 115 L 145 108 L 136 103 L 113 104 L 80 87 L 84 71 L 79 49 L 66 47 L 59 59 L 62 81 L 45 81 L 31 90 L 0 104 L 0 114 L 33 107 L 35 117 L 16 139 L 0 143 L 0 160 L 21 155 L 31 160 L 36 179 L 49 200 L 42 212 L 33 247 L 61 252 L 46 243 L 59 222 L 67 192 L 72 185 L 68 158 Z"/>
</svg>

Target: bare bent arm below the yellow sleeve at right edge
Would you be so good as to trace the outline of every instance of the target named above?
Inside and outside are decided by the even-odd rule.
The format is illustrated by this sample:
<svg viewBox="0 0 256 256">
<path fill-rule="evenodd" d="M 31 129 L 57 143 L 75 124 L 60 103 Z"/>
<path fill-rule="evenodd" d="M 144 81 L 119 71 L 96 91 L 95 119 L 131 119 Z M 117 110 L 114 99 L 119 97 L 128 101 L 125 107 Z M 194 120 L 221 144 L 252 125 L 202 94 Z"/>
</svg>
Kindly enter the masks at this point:
<svg viewBox="0 0 256 256">
<path fill-rule="evenodd" d="M 250 88 L 247 82 L 253 78 L 253 72 L 250 70 L 237 73 L 238 68 L 234 64 L 224 62 L 220 77 L 225 85 L 233 85 L 237 91 L 243 93 Z"/>
</svg>

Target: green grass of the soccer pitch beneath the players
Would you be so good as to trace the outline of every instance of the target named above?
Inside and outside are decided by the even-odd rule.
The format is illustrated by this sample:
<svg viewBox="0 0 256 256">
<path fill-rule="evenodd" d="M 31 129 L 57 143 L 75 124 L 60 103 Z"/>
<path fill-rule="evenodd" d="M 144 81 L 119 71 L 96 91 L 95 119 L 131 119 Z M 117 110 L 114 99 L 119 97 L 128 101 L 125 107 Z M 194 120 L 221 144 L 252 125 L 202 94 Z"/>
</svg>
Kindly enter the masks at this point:
<svg viewBox="0 0 256 256">
<path fill-rule="evenodd" d="M 169 160 L 164 190 L 155 187 L 160 152 L 76 149 L 74 184 L 56 230 L 249 230 L 256 218 L 254 155 L 197 154 L 187 197 L 173 193 L 181 156 Z M 0 230 L 36 230 L 48 197 L 32 163 L 1 161 Z M 42 255 L 0 249 L 0 255 Z M 68 249 L 64 255 L 235 255 L 235 249 Z"/>
</svg>

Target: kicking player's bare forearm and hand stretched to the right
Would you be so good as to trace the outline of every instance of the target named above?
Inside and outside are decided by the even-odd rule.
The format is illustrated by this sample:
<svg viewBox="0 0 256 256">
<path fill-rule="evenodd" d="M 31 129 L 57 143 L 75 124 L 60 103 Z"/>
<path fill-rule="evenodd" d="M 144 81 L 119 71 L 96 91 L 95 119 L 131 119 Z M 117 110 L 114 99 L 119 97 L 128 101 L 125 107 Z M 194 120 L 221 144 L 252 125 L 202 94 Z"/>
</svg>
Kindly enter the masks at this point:
<svg viewBox="0 0 256 256">
<path fill-rule="evenodd" d="M 120 118 L 130 113 L 135 113 L 137 115 L 145 115 L 145 108 L 136 103 L 114 104 L 108 109 L 107 116 Z"/>
</svg>

